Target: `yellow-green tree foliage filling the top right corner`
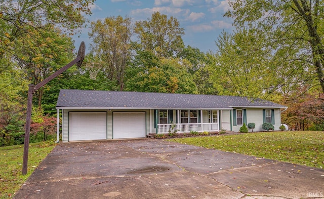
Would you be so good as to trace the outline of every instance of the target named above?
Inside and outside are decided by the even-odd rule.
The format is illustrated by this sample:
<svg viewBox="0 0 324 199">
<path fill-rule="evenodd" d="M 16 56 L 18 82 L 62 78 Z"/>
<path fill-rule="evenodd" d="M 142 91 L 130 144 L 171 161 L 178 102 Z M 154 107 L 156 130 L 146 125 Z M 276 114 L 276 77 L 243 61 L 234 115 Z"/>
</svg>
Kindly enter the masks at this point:
<svg viewBox="0 0 324 199">
<path fill-rule="evenodd" d="M 234 25 L 257 30 L 265 38 L 257 49 L 269 49 L 268 64 L 277 89 L 294 98 L 294 88 L 319 86 L 324 93 L 322 1 L 232 1 L 225 16 L 234 18 Z M 311 19 L 311 20 L 310 20 Z M 293 35 L 293 36 L 292 36 Z M 253 53 L 253 51 L 250 51 Z M 289 72 L 290 71 L 290 72 Z M 292 95 L 293 94 L 293 95 Z"/>
</svg>

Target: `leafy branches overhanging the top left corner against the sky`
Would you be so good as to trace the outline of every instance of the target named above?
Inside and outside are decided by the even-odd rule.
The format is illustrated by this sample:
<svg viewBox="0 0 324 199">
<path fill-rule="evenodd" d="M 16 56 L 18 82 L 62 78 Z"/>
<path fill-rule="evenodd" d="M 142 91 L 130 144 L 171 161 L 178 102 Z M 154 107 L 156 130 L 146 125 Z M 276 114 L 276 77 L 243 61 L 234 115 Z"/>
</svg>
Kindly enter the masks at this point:
<svg viewBox="0 0 324 199">
<path fill-rule="evenodd" d="M 85 22 L 83 14 L 91 14 L 89 6 L 93 3 L 94 0 L 0 0 L 0 59 L 11 59 L 16 54 L 16 41 L 27 45 L 30 39 L 53 31 L 53 26 L 69 34 L 80 32 Z M 37 36 L 35 31 L 39 31 Z M 0 72 L 4 69 L 1 65 Z"/>
</svg>

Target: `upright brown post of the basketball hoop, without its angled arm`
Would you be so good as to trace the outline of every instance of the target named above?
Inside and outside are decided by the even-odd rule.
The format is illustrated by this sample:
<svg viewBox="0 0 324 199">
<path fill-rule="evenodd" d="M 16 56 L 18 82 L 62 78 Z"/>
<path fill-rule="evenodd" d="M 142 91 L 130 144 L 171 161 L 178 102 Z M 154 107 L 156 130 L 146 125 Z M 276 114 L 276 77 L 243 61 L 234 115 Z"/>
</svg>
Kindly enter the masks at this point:
<svg viewBox="0 0 324 199">
<path fill-rule="evenodd" d="M 34 85 L 28 85 L 28 100 L 27 100 L 27 116 L 25 126 L 25 142 L 24 142 L 24 157 L 22 163 L 22 174 L 27 174 L 28 167 L 28 150 L 29 150 L 29 132 L 30 132 L 30 120 L 31 120 L 31 107 L 32 107 L 32 95 L 34 94 Z"/>
</svg>

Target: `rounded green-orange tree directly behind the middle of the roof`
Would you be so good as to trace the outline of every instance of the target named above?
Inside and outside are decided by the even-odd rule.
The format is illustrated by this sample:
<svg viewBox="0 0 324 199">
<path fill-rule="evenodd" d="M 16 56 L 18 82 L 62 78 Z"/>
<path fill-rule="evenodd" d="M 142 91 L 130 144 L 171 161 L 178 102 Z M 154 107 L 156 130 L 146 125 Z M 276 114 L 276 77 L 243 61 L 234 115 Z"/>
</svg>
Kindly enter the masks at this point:
<svg viewBox="0 0 324 199">
<path fill-rule="evenodd" d="M 179 59 L 159 59 L 150 51 L 138 52 L 127 76 L 128 91 L 197 93 L 191 75 Z"/>
</svg>

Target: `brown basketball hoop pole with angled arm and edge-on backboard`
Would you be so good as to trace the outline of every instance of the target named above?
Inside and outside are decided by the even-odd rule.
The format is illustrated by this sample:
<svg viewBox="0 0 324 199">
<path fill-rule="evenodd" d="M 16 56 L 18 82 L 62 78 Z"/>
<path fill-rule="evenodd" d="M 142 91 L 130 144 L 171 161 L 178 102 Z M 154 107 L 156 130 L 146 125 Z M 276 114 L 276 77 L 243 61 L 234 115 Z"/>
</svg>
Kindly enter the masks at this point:
<svg viewBox="0 0 324 199">
<path fill-rule="evenodd" d="M 77 52 L 77 57 L 72 60 L 70 63 L 66 64 L 49 77 L 44 79 L 41 83 L 34 86 L 33 84 L 28 85 L 28 99 L 27 99 L 27 112 L 26 112 L 26 125 L 25 125 L 25 141 L 24 141 L 24 155 L 23 155 L 23 164 L 22 164 L 22 174 L 27 174 L 28 168 L 28 152 L 29 152 L 29 133 L 30 133 L 30 121 L 31 121 L 31 108 L 32 108 L 32 97 L 35 91 L 49 83 L 52 79 L 57 77 L 59 74 L 67 70 L 69 67 L 76 64 L 78 67 L 81 66 L 83 60 L 85 59 L 86 45 L 84 42 L 81 42 L 79 50 Z"/>
</svg>

